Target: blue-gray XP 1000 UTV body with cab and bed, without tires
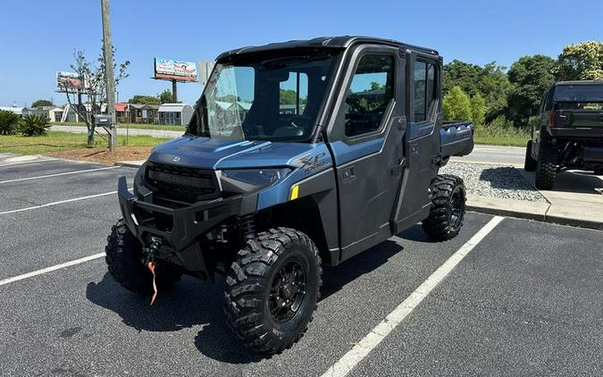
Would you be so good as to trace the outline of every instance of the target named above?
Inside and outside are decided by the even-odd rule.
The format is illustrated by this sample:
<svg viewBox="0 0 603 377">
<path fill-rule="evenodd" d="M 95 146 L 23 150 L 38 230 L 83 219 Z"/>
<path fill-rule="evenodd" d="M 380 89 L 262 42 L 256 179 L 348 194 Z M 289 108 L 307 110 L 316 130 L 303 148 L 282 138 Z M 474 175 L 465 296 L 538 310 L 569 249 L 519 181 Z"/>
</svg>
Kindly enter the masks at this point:
<svg viewBox="0 0 603 377">
<path fill-rule="evenodd" d="M 442 121 L 441 90 L 436 51 L 386 39 L 221 54 L 185 134 L 155 147 L 133 194 L 120 180 L 121 213 L 198 276 L 276 226 L 339 264 L 426 219 L 440 167 L 473 150 L 471 122 Z"/>
</svg>

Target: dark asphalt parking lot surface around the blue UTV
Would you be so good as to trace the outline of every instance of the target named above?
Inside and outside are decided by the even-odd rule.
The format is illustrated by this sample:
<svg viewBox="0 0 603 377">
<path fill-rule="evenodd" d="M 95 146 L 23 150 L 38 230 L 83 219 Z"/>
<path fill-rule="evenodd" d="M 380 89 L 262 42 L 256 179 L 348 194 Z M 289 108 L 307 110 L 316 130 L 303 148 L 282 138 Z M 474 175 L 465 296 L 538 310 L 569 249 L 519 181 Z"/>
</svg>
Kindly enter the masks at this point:
<svg viewBox="0 0 603 377">
<path fill-rule="evenodd" d="M 348 375 L 603 374 L 603 231 L 505 218 L 475 243 L 492 216 L 468 213 L 432 243 L 415 226 L 326 268 L 306 336 L 265 359 L 230 335 L 222 280 L 184 278 L 149 306 L 106 272 L 116 181 L 134 172 L 0 164 L 0 374 L 320 376 L 466 245 Z"/>
</svg>

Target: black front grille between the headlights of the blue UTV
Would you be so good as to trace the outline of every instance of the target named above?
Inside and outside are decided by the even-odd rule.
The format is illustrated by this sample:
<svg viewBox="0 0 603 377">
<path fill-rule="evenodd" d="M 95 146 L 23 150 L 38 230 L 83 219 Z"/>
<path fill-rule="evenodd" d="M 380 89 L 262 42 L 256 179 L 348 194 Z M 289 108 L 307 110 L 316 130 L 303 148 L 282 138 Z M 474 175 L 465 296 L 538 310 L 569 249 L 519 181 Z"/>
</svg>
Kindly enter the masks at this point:
<svg viewBox="0 0 603 377">
<path fill-rule="evenodd" d="M 211 170 L 149 162 L 145 180 L 156 199 L 192 204 L 220 196 Z"/>
</svg>

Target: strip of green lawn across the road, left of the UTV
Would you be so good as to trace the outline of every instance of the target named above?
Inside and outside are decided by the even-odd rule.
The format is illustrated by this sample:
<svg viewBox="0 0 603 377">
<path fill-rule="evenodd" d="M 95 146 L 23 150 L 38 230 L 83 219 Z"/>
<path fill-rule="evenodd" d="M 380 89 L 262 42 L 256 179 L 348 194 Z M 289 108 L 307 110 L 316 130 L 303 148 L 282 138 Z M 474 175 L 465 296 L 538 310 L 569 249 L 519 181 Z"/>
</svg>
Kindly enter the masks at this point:
<svg viewBox="0 0 603 377">
<path fill-rule="evenodd" d="M 48 131 L 46 136 L 23 137 L 21 135 L 0 135 L 0 153 L 16 153 L 20 155 L 39 155 L 45 152 L 57 152 L 67 149 L 86 147 L 86 134 Z M 150 136 L 130 136 L 130 147 L 152 147 L 169 138 L 151 138 Z M 98 135 L 95 137 L 96 147 L 105 147 L 107 142 Z M 117 137 L 118 145 L 125 146 L 126 137 Z"/>
</svg>

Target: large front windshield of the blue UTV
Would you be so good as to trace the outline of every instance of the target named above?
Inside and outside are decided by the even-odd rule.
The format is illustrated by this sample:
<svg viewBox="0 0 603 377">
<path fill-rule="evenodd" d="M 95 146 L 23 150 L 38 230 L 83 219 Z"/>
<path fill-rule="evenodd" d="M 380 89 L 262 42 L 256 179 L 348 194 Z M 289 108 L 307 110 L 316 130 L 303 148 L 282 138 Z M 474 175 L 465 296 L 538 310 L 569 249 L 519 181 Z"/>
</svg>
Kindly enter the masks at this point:
<svg viewBox="0 0 603 377">
<path fill-rule="evenodd" d="M 336 57 L 283 52 L 217 63 L 187 133 L 236 140 L 309 138 Z"/>
</svg>

